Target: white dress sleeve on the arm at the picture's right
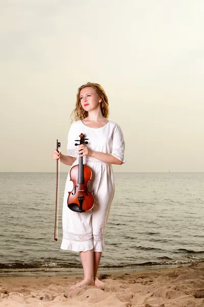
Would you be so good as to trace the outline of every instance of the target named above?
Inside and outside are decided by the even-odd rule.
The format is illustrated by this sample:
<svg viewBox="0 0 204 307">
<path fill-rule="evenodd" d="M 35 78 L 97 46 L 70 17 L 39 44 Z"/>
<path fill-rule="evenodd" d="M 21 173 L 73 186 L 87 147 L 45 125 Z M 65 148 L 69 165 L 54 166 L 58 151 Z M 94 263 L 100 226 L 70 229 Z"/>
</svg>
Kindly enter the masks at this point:
<svg viewBox="0 0 204 307">
<path fill-rule="evenodd" d="M 125 143 L 123 133 L 120 126 L 116 125 L 113 131 L 113 144 L 111 155 L 125 163 L 126 161 L 124 160 L 124 149 Z"/>
</svg>

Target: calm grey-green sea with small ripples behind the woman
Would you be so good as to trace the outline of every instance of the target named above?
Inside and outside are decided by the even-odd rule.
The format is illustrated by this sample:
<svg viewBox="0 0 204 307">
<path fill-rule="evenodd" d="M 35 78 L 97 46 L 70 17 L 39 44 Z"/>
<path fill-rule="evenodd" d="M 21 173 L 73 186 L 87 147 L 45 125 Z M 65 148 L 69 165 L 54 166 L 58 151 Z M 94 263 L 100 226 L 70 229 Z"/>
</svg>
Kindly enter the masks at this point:
<svg viewBox="0 0 204 307">
<path fill-rule="evenodd" d="M 204 173 L 118 173 L 99 272 L 179 267 L 204 260 Z M 0 173 L 0 276 L 83 273 L 60 249 L 67 173 Z M 83 213 L 82 213 L 83 214 Z"/>
</svg>

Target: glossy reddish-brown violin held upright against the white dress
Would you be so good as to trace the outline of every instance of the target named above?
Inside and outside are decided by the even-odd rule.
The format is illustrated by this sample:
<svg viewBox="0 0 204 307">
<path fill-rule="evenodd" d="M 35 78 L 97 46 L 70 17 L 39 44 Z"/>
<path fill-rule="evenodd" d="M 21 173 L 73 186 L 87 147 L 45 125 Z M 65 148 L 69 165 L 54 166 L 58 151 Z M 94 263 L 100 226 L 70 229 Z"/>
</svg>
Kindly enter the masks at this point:
<svg viewBox="0 0 204 307">
<path fill-rule="evenodd" d="M 80 140 L 75 140 L 80 142 L 76 143 L 75 146 L 81 144 L 88 144 L 84 138 L 83 133 L 79 136 Z M 80 153 L 82 155 L 82 153 Z M 72 166 L 70 169 L 70 181 L 73 182 L 73 190 L 69 192 L 67 199 L 67 206 L 70 210 L 74 212 L 86 212 L 93 208 L 94 198 L 93 192 L 89 191 L 88 183 L 91 181 L 92 170 L 91 168 L 84 164 L 83 157 L 79 157 L 79 164 Z"/>
</svg>

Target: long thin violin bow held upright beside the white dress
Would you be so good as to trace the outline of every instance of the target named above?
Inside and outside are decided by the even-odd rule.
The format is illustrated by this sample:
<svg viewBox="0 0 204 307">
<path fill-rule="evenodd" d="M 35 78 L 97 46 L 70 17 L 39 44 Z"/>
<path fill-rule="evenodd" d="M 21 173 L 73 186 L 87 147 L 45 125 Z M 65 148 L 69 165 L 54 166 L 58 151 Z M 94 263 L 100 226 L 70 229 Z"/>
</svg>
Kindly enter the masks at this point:
<svg viewBox="0 0 204 307">
<path fill-rule="evenodd" d="M 61 143 L 57 140 L 57 151 L 61 152 Z M 57 159 L 56 169 L 56 198 L 55 198 L 55 234 L 54 240 L 58 239 L 58 212 L 59 212 L 59 180 L 60 180 L 60 157 Z"/>
</svg>

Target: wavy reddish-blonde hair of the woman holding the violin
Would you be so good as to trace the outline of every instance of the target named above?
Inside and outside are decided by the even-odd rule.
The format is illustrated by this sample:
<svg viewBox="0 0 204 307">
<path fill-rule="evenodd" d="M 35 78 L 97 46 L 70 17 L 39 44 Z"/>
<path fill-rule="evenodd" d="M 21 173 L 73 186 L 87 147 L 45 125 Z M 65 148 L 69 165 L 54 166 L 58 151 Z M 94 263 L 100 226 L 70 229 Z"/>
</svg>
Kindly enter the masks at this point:
<svg viewBox="0 0 204 307">
<path fill-rule="evenodd" d="M 84 119 L 88 116 L 88 112 L 83 109 L 83 107 L 81 105 L 81 101 L 80 101 L 81 90 L 84 89 L 85 87 L 88 87 L 88 86 L 91 86 L 96 91 L 96 93 L 98 94 L 100 99 L 102 100 L 100 102 L 100 109 L 101 109 L 103 116 L 105 118 L 108 118 L 108 116 L 109 116 L 108 97 L 107 97 L 103 87 L 98 83 L 88 82 L 88 83 L 80 86 L 79 89 L 78 89 L 76 107 L 71 113 L 71 120 L 72 121 L 73 120 L 76 120 L 76 121 L 82 120 L 82 119 Z"/>
</svg>

